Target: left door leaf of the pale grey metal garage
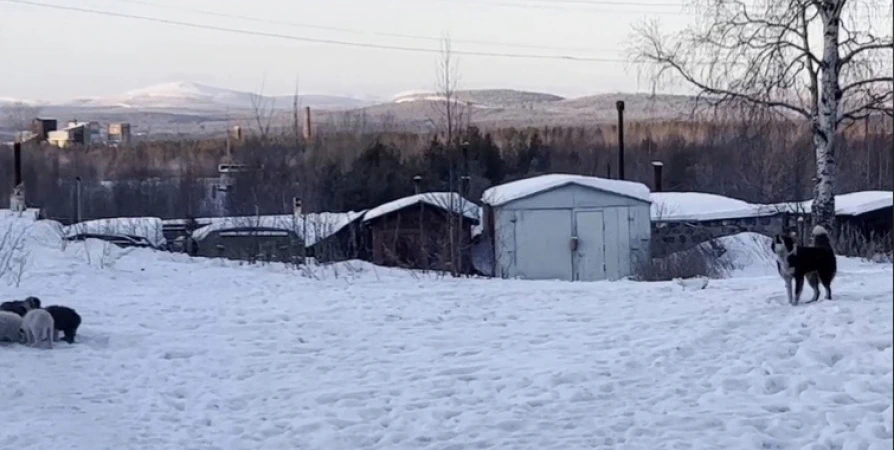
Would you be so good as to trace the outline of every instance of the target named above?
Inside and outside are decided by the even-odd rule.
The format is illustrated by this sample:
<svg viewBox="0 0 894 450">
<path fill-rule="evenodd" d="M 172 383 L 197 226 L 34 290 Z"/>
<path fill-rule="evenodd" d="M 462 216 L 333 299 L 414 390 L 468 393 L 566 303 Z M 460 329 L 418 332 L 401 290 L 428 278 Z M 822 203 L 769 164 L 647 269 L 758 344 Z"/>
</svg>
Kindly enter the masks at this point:
<svg viewBox="0 0 894 450">
<path fill-rule="evenodd" d="M 515 220 L 516 275 L 571 280 L 571 211 L 518 211 Z"/>
</svg>

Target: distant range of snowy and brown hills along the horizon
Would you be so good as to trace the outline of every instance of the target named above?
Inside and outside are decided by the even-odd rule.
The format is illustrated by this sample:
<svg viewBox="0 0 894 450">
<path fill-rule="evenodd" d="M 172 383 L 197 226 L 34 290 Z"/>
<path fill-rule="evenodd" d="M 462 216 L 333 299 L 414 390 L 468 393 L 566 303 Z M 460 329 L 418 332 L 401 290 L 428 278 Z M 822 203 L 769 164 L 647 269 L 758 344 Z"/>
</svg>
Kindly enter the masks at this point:
<svg viewBox="0 0 894 450">
<path fill-rule="evenodd" d="M 471 115 L 480 126 L 580 126 L 613 121 L 615 102 L 626 102 L 630 120 L 667 120 L 685 117 L 692 97 L 646 94 L 599 94 L 578 98 L 512 89 L 459 90 L 453 93 L 464 117 Z M 0 106 L 21 102 L 0 97 Z M 405 92 L 390 100 L 333 95 L 299 95 L 299 104 L 314 110 L 321 126 L 405 131 L 426 130 L 442 114 L 445 98 L 433 92 Z M 119 95 L 80 98 L 65 102 L 24 103 L 40 108 L 40 114 L 59 120 L 127 121 L 145 133 L 201 135 L 219 133 L 233 124 L 251 125 L 256 106 L 273 111 L 283 127 L 293 96 L 263 96 L 193 82 L 173 82 L 124 92 Z M 2 119 L 0 119 L 2 120 Z M 2 131 L 2 130 L 0 130 Z M 9 130 L 7 130 L 9 131 Z"/>
</svg>

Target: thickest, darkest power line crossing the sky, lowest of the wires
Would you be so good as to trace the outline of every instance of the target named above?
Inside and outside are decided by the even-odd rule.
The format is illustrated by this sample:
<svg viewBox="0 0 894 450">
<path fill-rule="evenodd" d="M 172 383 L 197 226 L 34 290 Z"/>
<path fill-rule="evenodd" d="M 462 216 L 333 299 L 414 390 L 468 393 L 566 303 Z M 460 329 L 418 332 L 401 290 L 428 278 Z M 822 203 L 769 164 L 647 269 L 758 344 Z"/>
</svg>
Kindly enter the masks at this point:
<svg viewBox="0 0 894 450">
<path fill-rule="evenodd" d="M 277 38 L 277 39 L 285 39 L 291 41 L 298 42 L 308 42 L 315 44 L 328 44 L 328 45 L 340 45 L 345 47 L 358 47 L 358 48 L 372 48 L 379 50 L 396 50 L 396 51 L 405 51 L 405 52 L 416 52 L 416 53 L 433 53 L 433 54 L 441 54 L 441 50 L 432 49 L 432 48 L 423 48 L 423 47 L 409 47 L 409 46 L 400 46 L 400 45 L 384 45 L 384 44 L 371 44 L 365 42 L 352 42 L 352 41 L 344 41 L 338 39 L 324 39 L 324 38 L 315 38 L 315 37 L 307 37 L 307 36 L 296 36 L 296 35 L 288 35 L 281 33 L 271 33 L 271 32 L 263 32 L 263 31 L 254 31 L 254 30 L 246 30 L 241 28 L 229 28 L 229 27 L 221 27 L 217 25 L 206 25 L 199 24 L 194 22 L 185 22 L 180 20 L 172 20 L 172 19 L 164 19 L 159 17 L 151 17 L 151 16 L 142 16 L 136 14 L 126 14 L 126 13 L 118 13 L 112 11 L 100 11 L 96 9 L 90 8 L 80 8 L 75 6 L 63 6 L 63 5 L 52 5 L 48 3 L 40 3 L 30 0 L 0 0 L 0 2 L 5 3 L 14 3 L 19 5 L 28 5 L 35 6 L 40 8 L 47 9 L 56 9 L 63 11 L 73 11 L 80 12 L 86 14 L 95 14 L 101 16 L 109 16 L 109 17 L 117 17 L 122 19 L 134 19 L 134 20 L 142 20 L 146 22 L 154 22 L 161 23 L 165 25 L 176 25 L 187 28 L 194 29 L 202 29 L 202 30 L 212 30 L 212 31 L 220 31 L 227 33 L 235 33 L 242 34 L 248 36 L 260 36 L 260 37 L 269 37 L 269 38 Z M 575 62 L 601 62 L 601 63 L 626 63 L 628 61 L 620 58 L 602 58 L 602 57 L 590 57 L 590 56 L 572 56 L 572 55 L 538 55 L 538 54 L 523 54 L 523 53 L 501 53 L 501 52 L 481 52 L 481 51 L 464 51 L 464 50 L 453 50 L 451 53 L 455 55 L 463 55 L 463 56 L 484 56 L 484 57 L 495 57 L 495 58 L 514 58 L 514 59 L 540 59 L 540 60 L 562 60 L 562 61 L 575 61 Z"/>
</svg>

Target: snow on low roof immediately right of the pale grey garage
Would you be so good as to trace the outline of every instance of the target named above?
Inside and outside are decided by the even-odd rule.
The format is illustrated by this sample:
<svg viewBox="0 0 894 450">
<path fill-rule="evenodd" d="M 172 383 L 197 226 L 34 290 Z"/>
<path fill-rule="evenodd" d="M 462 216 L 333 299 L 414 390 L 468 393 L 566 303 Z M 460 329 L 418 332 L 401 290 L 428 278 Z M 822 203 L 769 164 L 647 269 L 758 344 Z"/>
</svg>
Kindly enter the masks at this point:
<svg viewBox="0 0 894 450">
<path fill-rule="evenodd" d="M 743 200 L 704 192 L 653 192 L 652 220 L 718 220 L 772 215 Z"/>
</svg>

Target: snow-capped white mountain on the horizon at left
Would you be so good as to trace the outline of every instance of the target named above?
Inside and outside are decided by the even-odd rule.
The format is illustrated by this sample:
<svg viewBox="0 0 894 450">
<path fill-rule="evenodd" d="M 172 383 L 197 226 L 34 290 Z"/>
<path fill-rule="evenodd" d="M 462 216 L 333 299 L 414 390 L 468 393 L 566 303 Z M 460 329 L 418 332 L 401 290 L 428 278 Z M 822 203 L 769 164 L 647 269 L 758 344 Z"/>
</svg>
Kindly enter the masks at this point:
<svg viewBox="0 0 894 450">
<path fill-rule="evenodd" d="M 333 95 L 299 95 L 302 106 L 321 109 L 356 108 L 368 104 L 360 99 Z M 77 99 L 72 106 L 117 107 L 131 109 L 224 110 L 263 108 L 291 109 L 293 97 L 265 96 L 218 88 L 200 83 L 178 81 L 134 89 L 111 97 Z"/>
</svg>

